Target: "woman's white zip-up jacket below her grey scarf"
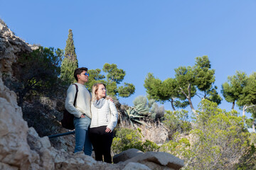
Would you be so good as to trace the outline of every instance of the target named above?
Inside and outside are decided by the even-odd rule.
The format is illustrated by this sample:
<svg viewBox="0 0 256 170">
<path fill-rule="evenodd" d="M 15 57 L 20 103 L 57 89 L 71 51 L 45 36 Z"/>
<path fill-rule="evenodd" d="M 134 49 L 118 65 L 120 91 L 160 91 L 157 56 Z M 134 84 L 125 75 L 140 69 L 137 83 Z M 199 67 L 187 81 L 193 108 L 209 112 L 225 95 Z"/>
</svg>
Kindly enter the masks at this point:
<svg viewBox="0 0 256 170">
<path fill-rule="evenodd" d="M 114 103 L 110 100 L 106 100 L 102 108 L 96 108 L 91 103 L 91 113 L 92 121 L 90 128 L 97 128 L 103 125 L 107 125 L 107 128 L 114 130 L 114 127 L 117 125 L 117 108 L 114 106 Z"/>
</svg>

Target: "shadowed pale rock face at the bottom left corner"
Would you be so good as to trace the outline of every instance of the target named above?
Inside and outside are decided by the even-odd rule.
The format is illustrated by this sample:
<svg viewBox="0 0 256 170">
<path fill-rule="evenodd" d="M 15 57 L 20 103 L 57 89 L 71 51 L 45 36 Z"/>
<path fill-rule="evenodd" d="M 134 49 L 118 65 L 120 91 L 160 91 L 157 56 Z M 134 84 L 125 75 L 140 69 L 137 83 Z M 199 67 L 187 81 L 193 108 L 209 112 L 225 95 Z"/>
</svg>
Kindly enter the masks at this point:
<svg viewBox="0 0 256 170">
<path fill-rule="evenodd" d="M 28 169 L 33 157 L 26 140 L 28 125 L 22 118 L 14 91 L 0 79 L 0 162 L 4 166 Z"/>
</svg>

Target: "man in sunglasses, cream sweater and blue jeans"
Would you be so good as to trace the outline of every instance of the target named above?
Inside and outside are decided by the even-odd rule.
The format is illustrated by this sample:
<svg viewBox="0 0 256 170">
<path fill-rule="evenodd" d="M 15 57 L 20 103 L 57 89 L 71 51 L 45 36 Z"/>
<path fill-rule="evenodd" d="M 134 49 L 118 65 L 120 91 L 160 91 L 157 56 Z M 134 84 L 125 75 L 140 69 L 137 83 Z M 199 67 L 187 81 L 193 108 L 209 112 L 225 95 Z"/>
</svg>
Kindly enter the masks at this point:
<svg viewBox="0 0 256 170">
<path fill-rule="evenodd" d="M 92 114 L 90 112 L 91 94 L 85 88 L 85 83 L 88 81 L 89 74 L 87 68 L 81 67 L 75 69 L 74 77 L 78 85 L 78 96 L 75 100 L 76 88 L 75 85 L 70 85 L 67 91 L 67 98 L 65 99 L 65 108 L 69 113 L 74 115 L 75 125 L 75 152 L 83 152 L 89 156 L 92 154 L 92 144 L 88 137 L 88 127 L 91 122 Z"/>
</svg>

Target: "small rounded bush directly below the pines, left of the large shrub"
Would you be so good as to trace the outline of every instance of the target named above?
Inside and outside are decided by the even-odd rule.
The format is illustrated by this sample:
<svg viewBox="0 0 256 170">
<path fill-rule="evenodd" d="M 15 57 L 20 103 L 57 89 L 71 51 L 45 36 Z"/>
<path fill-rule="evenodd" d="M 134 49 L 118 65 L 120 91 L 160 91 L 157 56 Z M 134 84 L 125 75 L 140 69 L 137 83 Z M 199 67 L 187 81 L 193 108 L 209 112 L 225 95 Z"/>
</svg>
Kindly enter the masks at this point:
<svg viewBox="0 0 256 170">
<path fill-rule="evenodd" d="M 188 132 L 191 130 L 191 123 L 188 122 L 188 111 L 166 111 L 164 115 L 164 126 L 173 135 L 175 132 Z"/>
</svg>

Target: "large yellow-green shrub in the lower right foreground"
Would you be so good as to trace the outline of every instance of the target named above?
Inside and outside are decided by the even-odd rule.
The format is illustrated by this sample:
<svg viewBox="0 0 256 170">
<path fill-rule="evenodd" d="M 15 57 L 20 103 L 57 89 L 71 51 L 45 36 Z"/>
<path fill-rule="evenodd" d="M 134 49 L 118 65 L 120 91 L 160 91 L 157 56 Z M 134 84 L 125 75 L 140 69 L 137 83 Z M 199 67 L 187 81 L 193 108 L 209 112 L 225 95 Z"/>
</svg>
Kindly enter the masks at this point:
<svg viewBox="0 0 256 170">
<path fill-rule="evenodd" d="M 249 133 L 235 113 L 227 113 L 216 103 L 203 100 L 194 123 L 191 134 L 195 142 L 191 145 L 188 167 L 227 169 L 245 152 Z"/>
</svg>

